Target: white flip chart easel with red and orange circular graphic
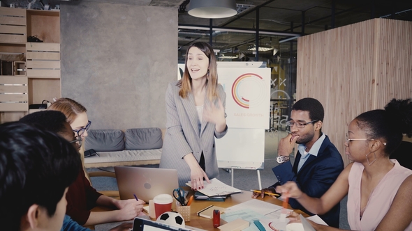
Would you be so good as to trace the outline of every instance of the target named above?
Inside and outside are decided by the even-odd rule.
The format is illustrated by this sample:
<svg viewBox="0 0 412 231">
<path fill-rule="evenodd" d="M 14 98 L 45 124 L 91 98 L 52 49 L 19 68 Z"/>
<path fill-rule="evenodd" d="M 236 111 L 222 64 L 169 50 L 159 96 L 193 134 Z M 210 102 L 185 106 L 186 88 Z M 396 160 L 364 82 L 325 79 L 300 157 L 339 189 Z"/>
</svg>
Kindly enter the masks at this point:
<svg viewBox="0 0 412 231">
<path fill-rule="evenodd" d="M 270 68 L 263 62 L 218 62 L 219 83 L 226 92 L 228 133 L 216 138 L 219 168 L 260 170 L 265 162 L 265 129 L 270 122 Z"/>
</svg>

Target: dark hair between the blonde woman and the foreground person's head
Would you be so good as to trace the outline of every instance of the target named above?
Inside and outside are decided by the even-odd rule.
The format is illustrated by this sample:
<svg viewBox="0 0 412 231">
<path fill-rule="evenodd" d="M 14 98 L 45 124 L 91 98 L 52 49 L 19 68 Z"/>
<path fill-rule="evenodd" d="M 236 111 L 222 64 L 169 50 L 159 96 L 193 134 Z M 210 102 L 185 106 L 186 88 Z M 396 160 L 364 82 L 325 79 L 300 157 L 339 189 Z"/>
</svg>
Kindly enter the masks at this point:
<svg viewBox="0 0 412 231">
<path fill-rule="evenodd" d="M 29 125 L 36 124 L 54 133 L 66 132 L 66 127 L 64 127 L 66 116 L 60 111 L 38 111 L 24 116 L 19 121 Z"/>
</svg>

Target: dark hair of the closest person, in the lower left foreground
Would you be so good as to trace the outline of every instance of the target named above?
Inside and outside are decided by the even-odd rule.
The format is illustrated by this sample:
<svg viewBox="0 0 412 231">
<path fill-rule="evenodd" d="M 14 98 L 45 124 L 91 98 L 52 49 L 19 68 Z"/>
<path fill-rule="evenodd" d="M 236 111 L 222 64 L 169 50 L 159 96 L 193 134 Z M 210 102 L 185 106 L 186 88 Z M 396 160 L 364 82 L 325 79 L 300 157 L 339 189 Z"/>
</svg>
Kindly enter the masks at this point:
<svg viewBox="0 0 412 231">
<path fill-rule="evenodd" d="M 22 122 L 0 125 L 1 229 L 20 230 L 31 205 L 53 216 L 80 169 L 78 151 L 57 134 Z"/>
</svg>

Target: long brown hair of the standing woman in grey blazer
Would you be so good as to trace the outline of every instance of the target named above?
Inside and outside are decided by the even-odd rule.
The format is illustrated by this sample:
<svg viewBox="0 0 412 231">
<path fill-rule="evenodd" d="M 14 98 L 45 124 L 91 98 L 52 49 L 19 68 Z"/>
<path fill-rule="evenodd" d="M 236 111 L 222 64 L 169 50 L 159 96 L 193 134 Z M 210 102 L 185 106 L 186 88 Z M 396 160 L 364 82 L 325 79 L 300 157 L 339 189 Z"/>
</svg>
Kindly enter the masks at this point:
<svg viewBox="0 0 412 231">
<path fill-rule="evenodd" d="M 184 65 L 184 73 L 182 79 L 177 83 L 180 87 L 179 96 L 182 98 L 187 97 L 188 93 L 191 92 L 192 79 L 189 74 L 189 69 L 187 68 L 187 57 L 189 56 L 189 50 L 191 47 L 198 47 L 200 51 L 205 53 L 207 58 L 209 58 L 209 71 L 207 72 L 206 86 L 207 86 L 207 97 L 210 101 L 218 97 L 216 92 L 217 86 L 217 63 L 216 56 L 214 56 L 213 48 L 207 42 L 195 42 L 190 45 L 186 51 L 186 62 Z"/>
</svg>

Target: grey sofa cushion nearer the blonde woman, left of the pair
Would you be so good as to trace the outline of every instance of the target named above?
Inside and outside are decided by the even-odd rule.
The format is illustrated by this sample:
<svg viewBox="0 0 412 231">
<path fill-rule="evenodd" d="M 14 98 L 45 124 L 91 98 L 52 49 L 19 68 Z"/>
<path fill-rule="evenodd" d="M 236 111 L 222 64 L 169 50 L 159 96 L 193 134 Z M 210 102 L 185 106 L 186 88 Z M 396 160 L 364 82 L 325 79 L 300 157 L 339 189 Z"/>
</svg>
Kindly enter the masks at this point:
<svg viewBox="0 0 412 231">
<path fill-rule="evenodd" d="M 115 152 L 124 150 L 124 132 L 118 129 L 90 129 L 84 141 L 84 150 Z"/>
</svg>

